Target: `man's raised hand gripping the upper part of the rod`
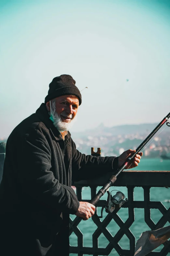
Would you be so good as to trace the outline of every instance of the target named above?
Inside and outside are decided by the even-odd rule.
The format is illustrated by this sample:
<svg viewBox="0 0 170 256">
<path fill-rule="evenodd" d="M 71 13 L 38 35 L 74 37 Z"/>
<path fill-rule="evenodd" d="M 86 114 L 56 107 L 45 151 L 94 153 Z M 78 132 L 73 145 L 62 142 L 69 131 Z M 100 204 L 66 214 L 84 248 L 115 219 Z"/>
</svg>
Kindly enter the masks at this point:
<svg viewBox="0 0 170 256">
<path fill-rule="evenodd" d="M 136 150 L 128 149 L 124 151 L 118 158 L 119 167 L 126 161 L 126 159 L 133 153 L 135 153 Z M 138 166 L 138 163 L 140 162 L 141 156 L 143 155 L 142 152 L 135 155 L 135 157 L 128 163 L 127 168 L 134 168 Z"/>
</svg>

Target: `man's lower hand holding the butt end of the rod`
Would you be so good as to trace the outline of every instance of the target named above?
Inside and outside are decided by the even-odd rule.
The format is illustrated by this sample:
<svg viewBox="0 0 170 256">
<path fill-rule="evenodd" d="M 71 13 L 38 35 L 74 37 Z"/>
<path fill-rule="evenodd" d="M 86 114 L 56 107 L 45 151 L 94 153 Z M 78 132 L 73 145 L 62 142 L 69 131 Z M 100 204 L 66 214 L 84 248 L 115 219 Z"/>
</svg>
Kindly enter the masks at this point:
<svg viewBox="0 0 170 256">
<path fill-rule="evenodd" d="M 83 220 L 88 220 L 90 217 L 94 215 L 95 206 L 88 202 L 79 202 L 79 208 L 77 213 L 75 214 L 78 217 L 83 218 Z"/>
</svg>

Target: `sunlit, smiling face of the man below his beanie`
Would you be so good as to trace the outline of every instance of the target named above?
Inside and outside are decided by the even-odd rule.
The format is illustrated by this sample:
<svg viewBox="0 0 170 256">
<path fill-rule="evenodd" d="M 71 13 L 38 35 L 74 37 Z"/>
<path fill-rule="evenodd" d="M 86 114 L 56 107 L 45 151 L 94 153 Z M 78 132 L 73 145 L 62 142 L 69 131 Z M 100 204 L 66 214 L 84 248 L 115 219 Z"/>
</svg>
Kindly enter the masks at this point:
<svg viewBox="0 0 170 256">
<path fill-rule="evenodd" d="M 78 97 L 63 95 L 55 98 L 55 111 L 63 122 L 69 123 L 75 118 L 79 107 Z"/>
</svg>

